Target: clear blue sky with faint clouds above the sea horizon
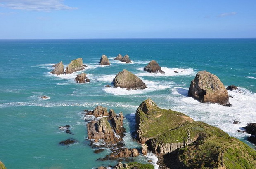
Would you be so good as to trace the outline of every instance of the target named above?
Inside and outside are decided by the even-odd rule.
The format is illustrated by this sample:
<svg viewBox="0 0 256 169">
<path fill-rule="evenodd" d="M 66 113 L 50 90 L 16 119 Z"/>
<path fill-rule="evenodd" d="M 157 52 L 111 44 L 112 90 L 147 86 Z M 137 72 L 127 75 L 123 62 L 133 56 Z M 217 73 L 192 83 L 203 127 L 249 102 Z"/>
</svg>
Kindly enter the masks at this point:
<svg viewBox="0 0 256 169">
<path fill-rule="evenodd" d="M 256 37 L 256 0 L 0 0 L 0 39 Z"/>
</svg>

